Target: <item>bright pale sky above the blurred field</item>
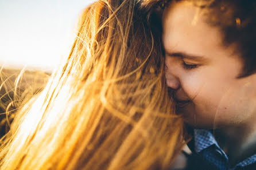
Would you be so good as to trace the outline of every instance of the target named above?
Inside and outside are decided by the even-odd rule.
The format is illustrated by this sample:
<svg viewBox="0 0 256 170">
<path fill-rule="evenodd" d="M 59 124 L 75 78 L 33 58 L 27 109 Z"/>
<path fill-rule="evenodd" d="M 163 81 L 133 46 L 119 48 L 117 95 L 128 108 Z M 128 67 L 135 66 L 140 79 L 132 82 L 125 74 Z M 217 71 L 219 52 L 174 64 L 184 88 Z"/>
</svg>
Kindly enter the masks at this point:
<svg viewBox="0 0 256 170">
<path fill-rule="evenodd" d="M 0 0 L 0 64 L 51 70 L 67 55 L 80 12 L 95 0 Z"/>
</svg>

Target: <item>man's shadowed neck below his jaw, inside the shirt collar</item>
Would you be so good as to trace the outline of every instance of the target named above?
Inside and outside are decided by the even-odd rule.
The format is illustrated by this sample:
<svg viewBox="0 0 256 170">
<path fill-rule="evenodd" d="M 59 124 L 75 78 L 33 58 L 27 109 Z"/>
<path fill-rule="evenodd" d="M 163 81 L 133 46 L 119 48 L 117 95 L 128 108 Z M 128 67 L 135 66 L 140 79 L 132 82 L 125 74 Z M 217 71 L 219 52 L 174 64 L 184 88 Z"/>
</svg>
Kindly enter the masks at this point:
<svg viewBox="0 0 256 170">
<path fill-rule="evenodd" d="M 254 123 L 255 124 L 255 123 Z M 231 165 L 256 154 L 256 125 L 246 124 L 216 129 L 214 136 Z"/>
</svg>

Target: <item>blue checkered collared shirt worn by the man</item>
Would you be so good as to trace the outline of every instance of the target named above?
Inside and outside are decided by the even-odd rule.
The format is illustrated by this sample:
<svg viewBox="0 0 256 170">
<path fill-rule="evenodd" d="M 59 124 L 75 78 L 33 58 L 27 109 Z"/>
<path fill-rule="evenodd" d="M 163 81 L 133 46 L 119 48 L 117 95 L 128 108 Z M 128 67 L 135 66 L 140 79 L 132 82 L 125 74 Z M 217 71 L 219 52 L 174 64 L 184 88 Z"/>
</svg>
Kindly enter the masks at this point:
<svg viewBox="0 0 256 170">
<path fill-rule="evenodd" d="M 256 154 L 243 160 L 242 162 L 230 167 L 226 153 L 219 147 L 214 135 L 204 129 L 195 129 L 195 152 L 203 156 L 211 164 L 214 164 L 220 170 L 235 170 L 238 167 L 245 167 L 256 162 Z"/>
</svg>

